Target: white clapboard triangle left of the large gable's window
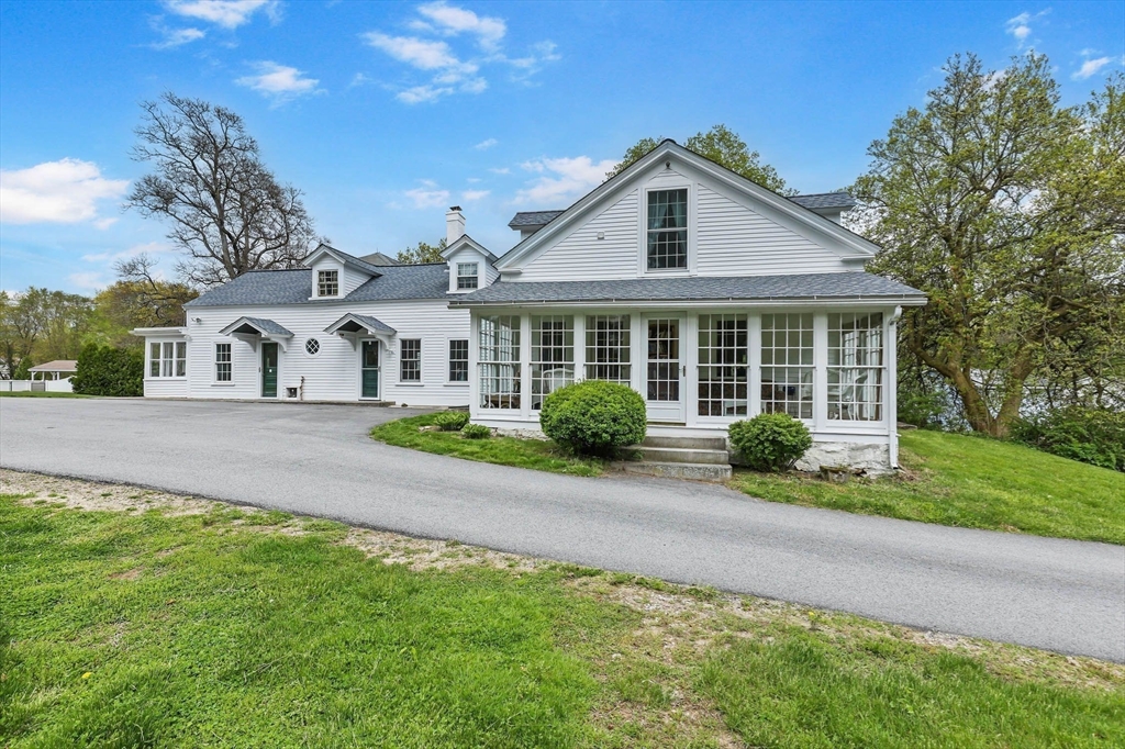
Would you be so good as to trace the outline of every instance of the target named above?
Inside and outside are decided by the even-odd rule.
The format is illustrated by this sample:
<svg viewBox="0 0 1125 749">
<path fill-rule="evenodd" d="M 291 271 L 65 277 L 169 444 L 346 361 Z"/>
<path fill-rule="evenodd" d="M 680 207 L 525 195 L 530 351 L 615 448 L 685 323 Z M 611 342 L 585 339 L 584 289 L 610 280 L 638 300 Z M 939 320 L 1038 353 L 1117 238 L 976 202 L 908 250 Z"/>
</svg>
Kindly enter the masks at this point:
<svg viewBox="0 0 1125 749">
<path fill-rule="evenodd" d="M 637 190 L 577 227 L 524 267 L 520 281 L 637 277 Z M 601 232 L 604 238 L 598 240 Z"/>
</svg>

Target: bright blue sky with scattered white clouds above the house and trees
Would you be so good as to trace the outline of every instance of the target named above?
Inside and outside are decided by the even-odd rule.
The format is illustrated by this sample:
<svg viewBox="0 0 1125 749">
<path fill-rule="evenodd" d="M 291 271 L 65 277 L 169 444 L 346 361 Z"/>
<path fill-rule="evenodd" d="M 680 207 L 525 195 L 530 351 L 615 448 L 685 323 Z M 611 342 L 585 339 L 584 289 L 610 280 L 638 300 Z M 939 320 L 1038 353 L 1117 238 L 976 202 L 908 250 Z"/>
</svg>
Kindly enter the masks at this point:
<svg viewBox="0 0 1125 749">
<path fill-rule="evenodd" d="M 243 115 L 317 232 L 389 254 L 561 208 L 642 136 L 723 123 L 802 192 L 850 183 L 952 54 L 1050 56 L 1065 103 L 1125 65 L 1115 2 L 0 2 L 0 288 L 90 294 L 164 226 L 120 208 L 138 102 Z"/>
</svg>

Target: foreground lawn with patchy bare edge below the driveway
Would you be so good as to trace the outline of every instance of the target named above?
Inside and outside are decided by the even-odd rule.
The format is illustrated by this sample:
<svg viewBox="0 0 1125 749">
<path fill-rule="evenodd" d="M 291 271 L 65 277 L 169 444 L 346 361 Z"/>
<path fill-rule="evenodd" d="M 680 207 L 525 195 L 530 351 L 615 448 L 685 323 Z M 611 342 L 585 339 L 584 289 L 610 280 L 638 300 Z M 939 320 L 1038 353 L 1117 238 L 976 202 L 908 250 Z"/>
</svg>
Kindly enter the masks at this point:
<svg viewBox="0 0 1125 749">
<path fill-rule="evenodd" d="M 0 485 L 4 747 L 1125 745 L 1120 665 L 129 487 Z"/>
</svg>

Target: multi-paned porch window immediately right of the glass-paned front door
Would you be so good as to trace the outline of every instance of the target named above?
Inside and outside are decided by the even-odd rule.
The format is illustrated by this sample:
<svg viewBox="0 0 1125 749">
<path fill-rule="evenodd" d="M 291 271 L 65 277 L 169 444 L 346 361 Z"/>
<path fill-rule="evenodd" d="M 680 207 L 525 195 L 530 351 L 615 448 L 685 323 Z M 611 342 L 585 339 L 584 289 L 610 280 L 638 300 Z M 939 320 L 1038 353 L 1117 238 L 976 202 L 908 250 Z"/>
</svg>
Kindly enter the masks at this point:
<svg viewBox="0 0 1125 749">
<path fill-rule="evenodd" d="M 700 315 L 700 416 L 745 416 L 748 400 L 746 315 Z"/>
</svg>

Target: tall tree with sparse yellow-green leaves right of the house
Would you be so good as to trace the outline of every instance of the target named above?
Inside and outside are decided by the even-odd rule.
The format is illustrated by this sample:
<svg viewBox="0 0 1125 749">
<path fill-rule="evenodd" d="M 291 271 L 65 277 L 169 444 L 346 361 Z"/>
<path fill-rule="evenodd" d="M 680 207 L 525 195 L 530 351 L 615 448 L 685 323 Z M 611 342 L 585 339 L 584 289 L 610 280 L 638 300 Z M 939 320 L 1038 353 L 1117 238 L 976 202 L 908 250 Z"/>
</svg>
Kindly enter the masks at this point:
<svg viewBox="0 0 1125 749">
<path fill-rule="evenodd" d="M 854 193 L 855 225 L 883 246 L 871 270 L 929 297 L 903 315 L 903 351 L 950 382 L 975 431 L 1007 435 L 1029 380 L 1072 368 L 1064 354 L 1120 361 L 1122 90 L 1118 76 L 1063 108 L 1046 57 L 997 72 L 958 55 L 868 148 Z"/>
</svg>

